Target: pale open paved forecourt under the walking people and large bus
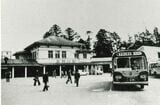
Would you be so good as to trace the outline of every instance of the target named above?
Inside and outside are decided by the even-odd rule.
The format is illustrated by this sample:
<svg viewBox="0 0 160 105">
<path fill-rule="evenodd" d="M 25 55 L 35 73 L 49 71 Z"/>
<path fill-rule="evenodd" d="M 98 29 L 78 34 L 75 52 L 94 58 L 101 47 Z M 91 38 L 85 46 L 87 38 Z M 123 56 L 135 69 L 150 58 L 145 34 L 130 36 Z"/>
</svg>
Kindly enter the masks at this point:
<svg viewBox="0 0 160 105">
<path fill-rule="evenodd" d="M 110 74 L 81 76 L 80 86 L 65 84 L 66 78 L 50 78 L 50 88 L 42 92 L 33 86 L 33 78 L 2 82 L 2 105 L 158 105 L 160 78 L 150 77 L 144 90 L 120 87 L 112 90 Z"/>
</svg>

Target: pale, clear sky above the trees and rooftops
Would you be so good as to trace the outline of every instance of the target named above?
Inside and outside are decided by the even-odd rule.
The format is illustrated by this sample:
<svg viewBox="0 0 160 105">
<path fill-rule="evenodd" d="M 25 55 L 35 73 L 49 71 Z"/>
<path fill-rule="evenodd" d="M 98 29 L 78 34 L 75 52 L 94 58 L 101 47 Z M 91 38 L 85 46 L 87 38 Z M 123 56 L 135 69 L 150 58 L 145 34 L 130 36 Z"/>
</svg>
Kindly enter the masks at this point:
<svg viewBox="0 0 160 105">
<path fill-rule="evenodd" d="M 99 29 L 115 31 L 122 40 L 145 29 L 160 28 L 160 0 L 1 0 L 1 50 L 21 51 L 41 40 L 57 24 L 82 38 Z"/>
</svg>

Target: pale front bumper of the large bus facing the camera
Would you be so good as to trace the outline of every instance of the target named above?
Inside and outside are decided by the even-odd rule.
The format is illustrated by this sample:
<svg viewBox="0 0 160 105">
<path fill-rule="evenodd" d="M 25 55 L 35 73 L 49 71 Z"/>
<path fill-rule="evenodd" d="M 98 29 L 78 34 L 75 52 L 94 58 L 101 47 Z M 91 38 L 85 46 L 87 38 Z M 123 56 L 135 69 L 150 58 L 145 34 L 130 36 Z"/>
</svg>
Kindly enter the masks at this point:
<svg viewBox="0 0 160 105">
<path fill-rule="evenodd" d="M 117 85 L 148 85 L 148 82 L 113 82 Z"/>
</svg>

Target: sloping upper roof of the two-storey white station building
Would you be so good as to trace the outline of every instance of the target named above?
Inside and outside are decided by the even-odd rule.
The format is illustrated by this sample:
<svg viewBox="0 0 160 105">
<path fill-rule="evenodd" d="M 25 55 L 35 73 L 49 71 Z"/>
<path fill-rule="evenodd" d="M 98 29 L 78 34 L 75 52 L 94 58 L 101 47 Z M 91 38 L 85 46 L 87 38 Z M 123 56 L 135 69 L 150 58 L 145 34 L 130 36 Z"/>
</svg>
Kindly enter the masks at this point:
<svg viewBox="0 0 160 105">
<path fill-rule="evenodd" d="M 64 39 L 62 37 L 57 37 L 57 36 L 49 36 L 47 38 L 44 38 L 42 40 L 36 41 L 26 47 L 24 50 L 28 50 L 30 48 L 33 48 L 34 46 L 37 45 L 47 45 L 47 46 L 71 46 L 71 47 L 80 47 L 83 46 L 83 44 L 78 43 L 78 42 L 73 42 L 67 39 Z"/>
</svg>

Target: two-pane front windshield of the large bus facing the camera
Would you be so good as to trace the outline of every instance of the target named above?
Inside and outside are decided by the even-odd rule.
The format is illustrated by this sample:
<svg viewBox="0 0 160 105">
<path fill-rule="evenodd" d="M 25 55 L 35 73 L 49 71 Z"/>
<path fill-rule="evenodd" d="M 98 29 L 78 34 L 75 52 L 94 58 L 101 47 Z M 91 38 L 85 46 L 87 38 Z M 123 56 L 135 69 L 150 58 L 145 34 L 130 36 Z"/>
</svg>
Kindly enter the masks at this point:
<svg viewBox="0 0 160 105">
<path fill-rule="evenodd" d="M 117 68 L 145 69 L 143 57 L 118 58 Z"/>
</svg>

